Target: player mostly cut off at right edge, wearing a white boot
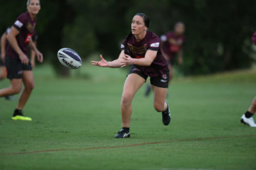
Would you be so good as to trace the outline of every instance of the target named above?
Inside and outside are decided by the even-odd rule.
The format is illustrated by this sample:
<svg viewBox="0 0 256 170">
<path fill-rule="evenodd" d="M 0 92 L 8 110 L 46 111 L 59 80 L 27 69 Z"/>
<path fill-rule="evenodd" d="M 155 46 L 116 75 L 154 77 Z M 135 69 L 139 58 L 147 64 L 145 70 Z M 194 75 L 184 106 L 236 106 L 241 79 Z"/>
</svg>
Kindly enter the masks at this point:
<svg viewBox="0 0 256 170">
<path fill-rule="evenodd" d="M 254 32 L 253 36 L 251 37 L 251 40 L 253 41 L 254 45 L 256 45 L 256 32 Z M 248 111 L 243 114 L 241 117 L 241 123 L 249 125 L 251 127 L 256 127 L 256 124 L 253 119 L 253 115 L 256 112 L 256 96 L 253 99 L 253 102 L 251 103 Z"/>
</svg>

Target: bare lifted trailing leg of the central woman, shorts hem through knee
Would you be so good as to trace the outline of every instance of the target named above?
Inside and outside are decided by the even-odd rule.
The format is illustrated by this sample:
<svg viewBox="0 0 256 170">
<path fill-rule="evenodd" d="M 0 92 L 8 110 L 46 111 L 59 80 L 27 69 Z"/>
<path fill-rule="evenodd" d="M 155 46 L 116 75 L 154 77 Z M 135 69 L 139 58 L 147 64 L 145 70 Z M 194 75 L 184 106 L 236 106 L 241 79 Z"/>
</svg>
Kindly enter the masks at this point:
<svg viewBox="0 0 256 170">
<path fill-rule="evenodd" d="M 157 112 L 164 112 L 167 109 L 166 95 L 168 88 L 161 88 L 153 86 L 154 91 L 154 108 Z"/>
</svg>

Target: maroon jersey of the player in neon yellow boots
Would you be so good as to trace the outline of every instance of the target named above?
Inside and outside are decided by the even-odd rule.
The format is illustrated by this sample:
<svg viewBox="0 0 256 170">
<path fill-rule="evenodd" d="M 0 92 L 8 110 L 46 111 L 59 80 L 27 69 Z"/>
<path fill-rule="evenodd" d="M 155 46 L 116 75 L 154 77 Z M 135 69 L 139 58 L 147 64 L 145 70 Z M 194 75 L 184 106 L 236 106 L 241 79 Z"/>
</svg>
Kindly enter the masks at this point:
<svg viewBox="0 0 256 170">
<path fill-rule="evenodd" d="M 36 25 L 36 18 L 32 20 L 28 12 L 24 12 L 22 15 L 19 15 L 19 17 L 15 20 L 15 23 L 13 24 L 13 27 L 18 29 L 19 31 L 19 34 L 16 36 L 16 40 L 18 42 L 19 48 L 26 55 L 27 55 L 28 43 L 32 39 L 35 25 Z M 19 55 L 15 52 L 15 50 L 11 47 L 10 44 L 7 46 L 6 56 L 19 58 Z"/>
</svg>

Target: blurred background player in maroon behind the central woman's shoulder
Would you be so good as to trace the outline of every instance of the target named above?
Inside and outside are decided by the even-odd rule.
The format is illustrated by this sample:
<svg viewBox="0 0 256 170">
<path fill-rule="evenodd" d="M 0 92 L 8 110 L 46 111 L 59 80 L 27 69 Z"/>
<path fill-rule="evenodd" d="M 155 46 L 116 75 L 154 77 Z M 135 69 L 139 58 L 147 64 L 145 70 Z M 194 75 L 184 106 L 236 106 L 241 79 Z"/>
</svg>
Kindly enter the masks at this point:
<svg viewBox="0 0 256 170">
<path fill-rule="evenodd" d="M 170 79 L 172 80 L 173 72 L 172 66 L 174 65 L 175 56 L 177 54 L 177 62 L 179 65 L 183 64 L 183 50 L 182 45 L 184 42 L 185 25 L 182 22 L 177 22 L 174 27 L 174 32 L 167 32 L 161 36 L 161 51 L 164 58 L 168 61 Z M 151 87 L 147 86 L 145 96 L 150 94 Z"/>
</svg>

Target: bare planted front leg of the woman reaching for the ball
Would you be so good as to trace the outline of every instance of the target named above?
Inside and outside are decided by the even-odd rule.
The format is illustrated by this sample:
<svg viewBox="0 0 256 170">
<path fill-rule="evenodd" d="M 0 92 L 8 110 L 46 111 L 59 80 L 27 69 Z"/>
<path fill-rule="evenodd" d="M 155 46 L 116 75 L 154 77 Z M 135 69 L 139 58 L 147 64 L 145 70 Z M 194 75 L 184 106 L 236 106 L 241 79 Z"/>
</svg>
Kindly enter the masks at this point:
<svg viewBox="0 0 256 170">
<path fill-rule="evenodd" d="M 141 88 L 145 79 L 138 74 L 129 74 L 123 87 L 123 94 L 121 100 L 121 114 L 122 114 L 122 127 L 129 128 L 131 120 L 131 101 L 136 92 Z"/>
</svg>

